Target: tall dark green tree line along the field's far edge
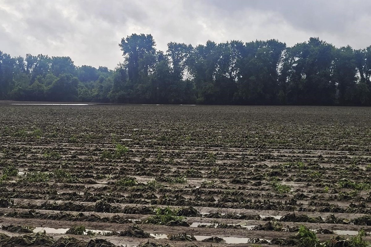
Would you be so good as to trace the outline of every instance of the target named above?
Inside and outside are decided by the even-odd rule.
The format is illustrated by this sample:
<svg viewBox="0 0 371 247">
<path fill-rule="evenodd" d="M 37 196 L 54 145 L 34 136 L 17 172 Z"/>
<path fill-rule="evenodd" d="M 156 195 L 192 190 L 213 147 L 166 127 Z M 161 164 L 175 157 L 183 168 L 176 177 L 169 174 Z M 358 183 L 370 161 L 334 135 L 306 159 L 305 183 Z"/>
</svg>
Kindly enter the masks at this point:
<svg viewBox="0 0 371 247">
<path fill-rule="evenodd" d="M 148 34 L 119 43 L 124 62 L 75 66 L 70 57 L 0 51 L 0 100 L 145 104 L 371 105 L 371 46 L 336 48 L 319 38 L 207 41 L 155 49 Z"/>
</svg>

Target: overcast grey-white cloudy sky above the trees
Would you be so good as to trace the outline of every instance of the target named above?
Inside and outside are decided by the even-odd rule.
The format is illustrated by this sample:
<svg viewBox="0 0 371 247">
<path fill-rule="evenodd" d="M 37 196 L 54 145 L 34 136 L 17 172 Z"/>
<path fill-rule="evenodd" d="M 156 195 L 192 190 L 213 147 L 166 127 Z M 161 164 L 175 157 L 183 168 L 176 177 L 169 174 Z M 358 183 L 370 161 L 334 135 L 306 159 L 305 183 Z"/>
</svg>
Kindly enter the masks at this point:
<svg viewBox="0 0 371 247">
<path fill-rule="evenodd" d="M 76 66 L 123 61 L 132 33 L 205 44 L 319 37 L 336 47 L 371 45 L 370 0 L 0 0 L 0 50 L 11 56 L 69 56 Z"/>
</svg>

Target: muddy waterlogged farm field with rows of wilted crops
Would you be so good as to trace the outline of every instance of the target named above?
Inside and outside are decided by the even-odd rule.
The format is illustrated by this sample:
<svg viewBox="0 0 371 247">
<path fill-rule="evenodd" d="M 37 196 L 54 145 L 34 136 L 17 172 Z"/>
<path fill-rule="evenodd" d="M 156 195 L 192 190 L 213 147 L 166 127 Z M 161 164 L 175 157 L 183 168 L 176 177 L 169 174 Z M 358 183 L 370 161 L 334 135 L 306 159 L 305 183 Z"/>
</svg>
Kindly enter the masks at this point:
<svg viewBox="0 0 371 247">
<path fill-rule="evenodd" d="M 3 103 L 0 246 L 371 241 L 370 123 L 367 107 Z"/>
</svg>

